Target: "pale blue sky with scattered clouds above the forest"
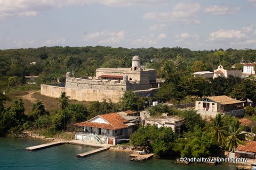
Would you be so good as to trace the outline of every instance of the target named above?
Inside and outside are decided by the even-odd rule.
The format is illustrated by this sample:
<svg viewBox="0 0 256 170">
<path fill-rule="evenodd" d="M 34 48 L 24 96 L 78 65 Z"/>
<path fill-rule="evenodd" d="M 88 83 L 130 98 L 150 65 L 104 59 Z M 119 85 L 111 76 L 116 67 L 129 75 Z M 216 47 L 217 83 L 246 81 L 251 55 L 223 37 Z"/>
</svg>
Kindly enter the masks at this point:
<svg viewBox="0 0 256 170">
<path fill-rule="evenodd" d="M 256 0 L 0 0 L 0 49 L 256 49 Z"/>
</svg>

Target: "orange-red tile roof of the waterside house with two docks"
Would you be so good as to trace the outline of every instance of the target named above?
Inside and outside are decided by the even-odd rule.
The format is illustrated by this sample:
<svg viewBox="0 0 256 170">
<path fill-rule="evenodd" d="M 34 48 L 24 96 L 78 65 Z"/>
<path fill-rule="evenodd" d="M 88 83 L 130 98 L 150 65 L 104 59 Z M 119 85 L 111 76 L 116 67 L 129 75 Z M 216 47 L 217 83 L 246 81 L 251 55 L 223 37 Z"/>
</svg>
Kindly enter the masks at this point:
<svg viewBox="0 0 256 170">
<path fill-rule="evenodd" d="M 97 116 L 95 116 L 97 117 Z M 93 118 L 95 118 L 93 117 Z M 92 127 L 92 128 L 102 128 L 102 129 L 111 129 L 111 130 L 117 130 L 117 129 L 123 129 L 127 128 L 128 125 L 124 124 L 127 122 L 122 116 L 118 115 L 117 113 L 109 113 L 105 115 L 99 115 L 103 120 L 105 120 L 107 123 L 94 123 L 90 122 L 93 120 L 88 120 L 86 122 L 81 122 L 81 123 L 76 123 L 76 126 L 87 126 L 87 127 Z"/>
</svg>

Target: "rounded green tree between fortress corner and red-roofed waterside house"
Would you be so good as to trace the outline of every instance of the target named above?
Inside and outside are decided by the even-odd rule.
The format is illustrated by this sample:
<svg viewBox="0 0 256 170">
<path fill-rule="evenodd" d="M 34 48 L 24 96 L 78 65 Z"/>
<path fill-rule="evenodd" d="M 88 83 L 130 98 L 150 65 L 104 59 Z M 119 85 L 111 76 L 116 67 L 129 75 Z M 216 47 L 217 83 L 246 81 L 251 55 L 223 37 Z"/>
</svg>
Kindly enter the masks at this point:
<svg viewBox="0 0 256 170">
<path fill-rule="evenodd" d="M 138 109 L 138 97 L 135 94 L 135 92 L 129 90 L 126 91 L 122 97 L 122 110 L 127 111 L 127 110 L 132 110 L 132 111 L 137 111 Z"/>
</svg>

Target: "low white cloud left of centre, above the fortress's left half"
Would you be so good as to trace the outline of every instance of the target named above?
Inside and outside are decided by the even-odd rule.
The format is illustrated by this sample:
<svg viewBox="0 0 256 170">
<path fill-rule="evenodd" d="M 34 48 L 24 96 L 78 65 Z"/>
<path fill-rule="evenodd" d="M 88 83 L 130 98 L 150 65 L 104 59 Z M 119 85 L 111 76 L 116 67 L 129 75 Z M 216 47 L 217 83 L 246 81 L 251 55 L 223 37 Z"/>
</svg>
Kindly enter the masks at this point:
<svg viewBox="0 0 256 170">
<path fill-rule="evenodd" d="M 125 38 L 125 31 L 118 31 L 118 32 L 110 32 L 110 31 L 101 31 L 101 32 L 94 32 L 89 35 L 85 36 L 85 40 L 95 40 L 101 44 L 116 44 L 119 43 L 121 40 Z"/>
</svg>

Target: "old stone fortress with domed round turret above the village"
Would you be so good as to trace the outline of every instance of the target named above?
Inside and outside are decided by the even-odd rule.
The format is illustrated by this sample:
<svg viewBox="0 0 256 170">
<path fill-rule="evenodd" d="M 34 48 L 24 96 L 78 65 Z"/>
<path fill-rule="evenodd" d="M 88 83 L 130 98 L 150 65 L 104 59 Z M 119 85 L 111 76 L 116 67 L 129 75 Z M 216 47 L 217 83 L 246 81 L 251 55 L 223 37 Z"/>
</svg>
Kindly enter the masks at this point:
<svg viewBox="0 0 256 170">
<path fill-rule="evenodd" d="M 132 58 L 131 68 L 99 68 L 96 77 L 73 78 L 66 74 L 66 83 L 62 86 L 41 84 L 41 94 L 59 98 L 66 92 L 70 99 L 78 101 L 111 100 L 117 103 L 125 91 L 133 90 L 138 96 L 149 96 L 159 89 L 161 80 L 156 79 L 156 70 L 145 69 L 140 65 L 140 58 Z"/>
</svg>

